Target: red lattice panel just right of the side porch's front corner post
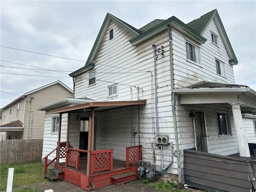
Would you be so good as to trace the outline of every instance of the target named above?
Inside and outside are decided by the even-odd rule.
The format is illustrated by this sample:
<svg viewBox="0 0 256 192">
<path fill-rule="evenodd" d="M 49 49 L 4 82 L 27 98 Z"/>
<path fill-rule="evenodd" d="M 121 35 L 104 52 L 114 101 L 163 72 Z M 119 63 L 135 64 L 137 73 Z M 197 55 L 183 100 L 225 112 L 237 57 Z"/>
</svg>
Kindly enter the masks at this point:
<svg viewBox="0 0 256 192">
<path fill-rule="evenodd" d="M 110 170 L 110 153 L 99 153 L 94 156 L 94 172 Z"/>
</svg>

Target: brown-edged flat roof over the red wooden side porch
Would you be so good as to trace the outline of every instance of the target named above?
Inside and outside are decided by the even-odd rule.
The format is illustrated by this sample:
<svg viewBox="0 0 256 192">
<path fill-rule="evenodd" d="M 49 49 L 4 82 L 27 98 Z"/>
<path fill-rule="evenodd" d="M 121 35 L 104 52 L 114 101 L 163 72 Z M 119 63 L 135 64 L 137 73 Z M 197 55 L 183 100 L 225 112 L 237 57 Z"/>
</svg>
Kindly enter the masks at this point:
<svg viewBox="0 0 256 192">
<path fill-rule="evenodd" d="M 52 110 L 52 114 L 55 113 L 65 113 L 65 112 L 76 112 L 79 110 L 95 108 L 95 111 L 108 110 L 113 108 L 120 108 L 125 106 L 136 106 L 136 105 L 144 105 L 146 104 L 146 100 L 138 100 L 138 101 L 96 101 L 96 102 L 88 102 L 84 104 L 79 104 L 70 107 L 58 108 Z"/>
</svg>

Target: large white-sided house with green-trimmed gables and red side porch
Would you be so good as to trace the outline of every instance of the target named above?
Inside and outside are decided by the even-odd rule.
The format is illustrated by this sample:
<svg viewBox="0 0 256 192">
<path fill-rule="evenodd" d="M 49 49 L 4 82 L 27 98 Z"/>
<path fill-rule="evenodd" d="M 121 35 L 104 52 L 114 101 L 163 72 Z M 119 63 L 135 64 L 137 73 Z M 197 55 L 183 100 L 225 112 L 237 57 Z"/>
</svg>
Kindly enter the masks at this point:
<svg viewBox="0 0 256 192">
<path fill-rule="evenodd" d="M 134 171 L 130 163 L 142 151 L 148 171 L 177 174 L 198 188 L 250 191 L 256 92 L 235 84 L 236 64 L 217 10 L 188 24 L 172 16 L 140 29 L 107 13 L 85 66 L 70 74 L 74 100 L 38 108 L 46 110 L 43 157 L 66 142 L 66 165 L 57 155 L 55 167 L 86 190 L 118 182 L 112 161 L 98 175 L 106 169 L 97 168 L 99 158 L 113 155 L 105 160 L 126 161 Z M 95 101 L 80 104 L 84 97 Z M 61 129 L 53 142 L 55 117 Z"/>
</svg>

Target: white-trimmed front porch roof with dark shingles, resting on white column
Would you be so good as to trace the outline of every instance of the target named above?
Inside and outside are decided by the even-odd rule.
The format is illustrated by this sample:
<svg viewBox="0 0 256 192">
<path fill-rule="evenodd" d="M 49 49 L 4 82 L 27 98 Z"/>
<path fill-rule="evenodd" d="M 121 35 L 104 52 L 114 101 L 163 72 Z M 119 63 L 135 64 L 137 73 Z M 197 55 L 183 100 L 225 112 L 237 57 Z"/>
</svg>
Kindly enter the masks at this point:
<svg viewBox="0 0 256 192">
<path fill-rule="evenodd" d="M 180 95 L 180 104 L 228 104 L 242 102 L 242 113 L 256 112 L 256 92 L 238 84 L 198 82 L 173 92 Z"/>
</svg>

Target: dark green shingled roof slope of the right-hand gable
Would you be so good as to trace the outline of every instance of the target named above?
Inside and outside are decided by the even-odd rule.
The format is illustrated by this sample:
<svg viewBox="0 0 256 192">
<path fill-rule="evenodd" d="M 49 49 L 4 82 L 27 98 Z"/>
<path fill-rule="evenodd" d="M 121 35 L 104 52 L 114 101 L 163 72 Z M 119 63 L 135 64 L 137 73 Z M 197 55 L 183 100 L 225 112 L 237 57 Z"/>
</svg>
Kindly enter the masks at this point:
<svg viewBox="0 0 256 192">
<path fill-rule="evenodd" d="M 189 22 L 186 25 L 189 26 L 190 28 L 192 28 L 194 31 L 201 34 L 202 30 L 207 25 L 208 21 L 212 17 L 212 14 L 214 14 L 215 11 L 216 11 L 216 9 L 202 15 L 199 20 L 196 20 L 196 19 L 192 20 L 191 22 Z"/>
</svg>

